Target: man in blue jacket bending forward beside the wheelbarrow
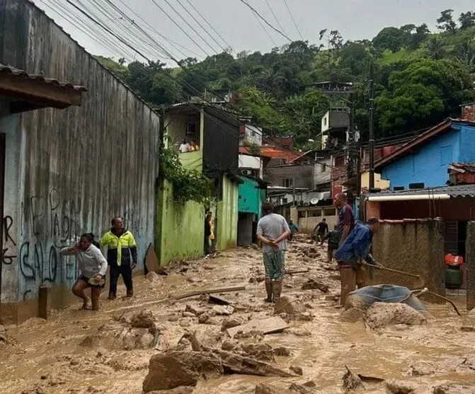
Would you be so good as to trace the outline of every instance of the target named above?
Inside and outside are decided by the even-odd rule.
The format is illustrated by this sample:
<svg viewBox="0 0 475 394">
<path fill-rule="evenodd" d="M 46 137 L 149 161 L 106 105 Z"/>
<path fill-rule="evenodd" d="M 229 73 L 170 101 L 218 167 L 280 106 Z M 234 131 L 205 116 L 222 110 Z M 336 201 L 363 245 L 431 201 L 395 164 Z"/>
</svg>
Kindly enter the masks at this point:
<svg viewBox="0 0 475 394">
<path fill-rule="evenodd" d="M 371 254 L 373 234 L 378 228 L 379 219 L 376 217 L 368 219 L 367 224 L 358 221 L 335 253 L 340 268 L 342 306 L 345 305 L 346 296 L 356 286 L 358 289 L 366 286 L 366 270 L 360 260 L 365 260 L 370 265 L 380 265 Z"/>
</svg>

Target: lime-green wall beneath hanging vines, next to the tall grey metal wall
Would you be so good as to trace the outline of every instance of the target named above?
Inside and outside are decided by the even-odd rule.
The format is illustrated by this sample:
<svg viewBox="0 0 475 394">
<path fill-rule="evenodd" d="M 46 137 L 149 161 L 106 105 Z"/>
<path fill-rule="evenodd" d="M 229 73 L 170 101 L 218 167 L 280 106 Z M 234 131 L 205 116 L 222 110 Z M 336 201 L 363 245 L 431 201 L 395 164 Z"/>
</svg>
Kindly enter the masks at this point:
<svg viewBox="0 0 475 394">
<path fill-rule="evenodd" d="M 173 202 L 173 186 L 168 180 L 159 187 L 156 200 L 155 245 L 160 265 L 202 256 L 205 237 L 205 209 L 202 205 Z"/>
</svg>

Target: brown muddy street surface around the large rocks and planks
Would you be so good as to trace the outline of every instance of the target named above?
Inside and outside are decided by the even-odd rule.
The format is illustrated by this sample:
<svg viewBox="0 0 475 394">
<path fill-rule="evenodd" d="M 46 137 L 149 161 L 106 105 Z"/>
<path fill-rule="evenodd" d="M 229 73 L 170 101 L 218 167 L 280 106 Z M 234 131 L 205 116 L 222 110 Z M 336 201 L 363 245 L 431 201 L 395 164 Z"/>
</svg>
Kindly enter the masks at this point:
<svg viewBox="0 0 475 394">
<path fill-rule="evenodd" d="M 290 301 L 281 303 L 277 314 L 277 306 L 264 303 L 261 253 L 248 248 L 185 262 L 166 276 L 141 277 L 132 299 L 104 300 L 99 312 L 79 311 L 78 301 L 49 320 L 32 318 L 6 327 L 0 341 L 0 392 L 139 394 L 152 356 L 192 352 L 197 346 L 239 349 L 289 376 L 225 373 L 200 380 L 195 393 L 254 393 L 261 383 L 289 393 L 343 393 L 345 366 L 373 377 L 363 378 L 367 393 L 475 392 L 468 386 L 475 384 L 475 332 L 467 318 L 459 318 L 450 305 L 428 304 L 433 318 L 423 325 L 371 329 L 362 321 L 341 321 L 338 271 L 325 258 L 324 248 L 303 237 L 290 243 L 286 270 L 309 272 L 286 275 L 282 296 Z M 309 279 L 318 286 L 309 285 Z M 119 294 L 124 294 L 120 283 Z M 246 290 L 215 294 L 230 305 L 212 303 L 205 295 L 171 297 L 225 286 Z M 465 314 L 462 302 L 457 305 Z M 273 316 L 288 328 L 268 335 L 243 331 L 236 339 L 226 332 Z M 309 381 L 314 384 L 302 386 Z M 292 383 L 297 391 L 288 391 Z M 447 386 L 455 383 L 468 388 Z M 436 391 L 438 386 L 447 390 Z"/>
</svg>

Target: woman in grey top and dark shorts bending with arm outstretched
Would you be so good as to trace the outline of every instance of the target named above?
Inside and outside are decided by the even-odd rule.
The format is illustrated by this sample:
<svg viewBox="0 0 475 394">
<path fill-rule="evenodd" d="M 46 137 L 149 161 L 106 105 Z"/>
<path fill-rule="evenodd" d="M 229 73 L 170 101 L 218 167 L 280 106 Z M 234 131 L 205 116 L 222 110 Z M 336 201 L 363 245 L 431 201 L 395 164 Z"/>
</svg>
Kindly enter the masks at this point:
<svg viewBox="0 0 475 394">
<path fill-rule="evenodd" d="M 72 287 L 75 296 L 83 301 L 83 309 L 88 308 L 88 297 L 84 290 L 91 287 L 91 301 L 93 311 L 99 310 L 99 298 L 105 285 L 105 272 L 107 272 L 107 260 L 101 249 L 94 245 L 94 235 L 84 233 L 79 243 L 61 250 L 62 255 L 76 255 L 81 276 Z M 97 243 L 96 243 L 97 244 Z"/>
</svg>

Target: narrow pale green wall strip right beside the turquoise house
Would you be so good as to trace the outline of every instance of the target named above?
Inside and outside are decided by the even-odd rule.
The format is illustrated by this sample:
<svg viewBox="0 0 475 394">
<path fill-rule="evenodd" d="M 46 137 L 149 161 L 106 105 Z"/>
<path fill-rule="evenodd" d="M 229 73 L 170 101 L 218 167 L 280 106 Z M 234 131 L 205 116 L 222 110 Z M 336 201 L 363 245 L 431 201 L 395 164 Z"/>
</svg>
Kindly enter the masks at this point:
<svg viewBox="0 0 475 394">
<path fill-rule="evenodd" d="M 236 248 L 239 185 L 223 176 L 223 198 L 217 203 L 217 248 Z"/>
</svg>

